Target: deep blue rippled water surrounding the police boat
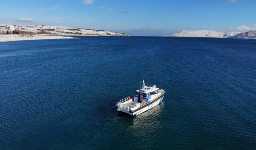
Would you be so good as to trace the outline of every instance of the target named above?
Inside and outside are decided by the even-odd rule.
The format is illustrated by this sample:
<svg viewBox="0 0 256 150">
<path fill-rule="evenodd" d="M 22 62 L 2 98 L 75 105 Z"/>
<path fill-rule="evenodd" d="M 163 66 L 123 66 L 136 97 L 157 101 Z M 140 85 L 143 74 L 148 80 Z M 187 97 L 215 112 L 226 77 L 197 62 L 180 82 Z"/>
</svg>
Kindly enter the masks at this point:
<svg viewBox="0 0 256 150">
<path fill-rule="evenodd" d="M 1 150 L 256 149 L 256 40 L 79 38 L 0 43 Z M 143 79 L 163 102 L 118 114 Z"/>
</svg>

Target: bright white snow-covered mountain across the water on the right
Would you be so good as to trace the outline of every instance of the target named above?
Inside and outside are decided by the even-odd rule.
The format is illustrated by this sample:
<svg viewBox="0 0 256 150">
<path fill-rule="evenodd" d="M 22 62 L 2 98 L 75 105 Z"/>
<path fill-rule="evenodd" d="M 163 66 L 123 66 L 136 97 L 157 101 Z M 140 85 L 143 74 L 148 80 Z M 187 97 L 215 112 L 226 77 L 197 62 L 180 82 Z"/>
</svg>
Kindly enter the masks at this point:
<svg viewBox="0 0 256 150">
<path fill-rule="evenodd" d="M 240 33 L 241 32 L 217 32 L 214 30 L 182 30 L 181 32 L 165 36 L 227 38 Z"/>
</svg>

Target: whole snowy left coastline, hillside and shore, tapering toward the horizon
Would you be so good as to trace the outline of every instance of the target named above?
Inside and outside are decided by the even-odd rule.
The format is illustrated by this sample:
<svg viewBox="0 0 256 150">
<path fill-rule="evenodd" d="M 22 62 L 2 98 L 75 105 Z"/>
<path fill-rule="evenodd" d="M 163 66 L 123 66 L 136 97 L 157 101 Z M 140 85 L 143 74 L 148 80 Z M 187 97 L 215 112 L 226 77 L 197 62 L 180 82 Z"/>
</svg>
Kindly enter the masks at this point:
<svg viewBox="0 0 256 150">
<path fill-rule="evenodd" d="M 5 33 L 18 34 L 5 34 Z M 2 34 L 1 34 L 2 33 Z M 57 36 L 58 35 L 58 36 Z M 61 39 L 72 38 L 68 35 L 76 36 L 132 36 L 130 34 L 118 33 L 104 30 L 77 29 L 64 26 L 19 26 L 0 24 L 0 42 L 18 41 L 18 40 L 43 40 L 43 39 Z"/>
</svg>

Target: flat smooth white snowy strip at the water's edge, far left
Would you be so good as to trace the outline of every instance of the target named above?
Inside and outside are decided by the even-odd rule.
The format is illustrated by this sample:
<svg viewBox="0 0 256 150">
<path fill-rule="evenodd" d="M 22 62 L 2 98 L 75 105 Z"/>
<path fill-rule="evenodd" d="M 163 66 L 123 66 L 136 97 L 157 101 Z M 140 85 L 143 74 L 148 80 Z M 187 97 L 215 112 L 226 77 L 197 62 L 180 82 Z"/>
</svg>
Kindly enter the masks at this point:
<svg viewBox="0 0 256 150">
<path fill-rule="evenodd" d="M 65 39 L 70 36 L 50 36 L 50 35 L 22 35 L 22 34 L 0 34 L 0 42 L 20 41 L 20 40 L 46 40 Z"/>
</svg>

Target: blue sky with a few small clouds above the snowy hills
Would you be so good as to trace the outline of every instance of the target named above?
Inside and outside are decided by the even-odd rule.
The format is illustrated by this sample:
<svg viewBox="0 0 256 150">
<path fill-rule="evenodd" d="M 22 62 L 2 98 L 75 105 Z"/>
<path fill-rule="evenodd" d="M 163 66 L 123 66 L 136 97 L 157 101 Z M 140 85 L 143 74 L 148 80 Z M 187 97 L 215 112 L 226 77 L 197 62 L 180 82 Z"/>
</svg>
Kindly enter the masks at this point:
<svg viewBox="0 0 256 150">
<path fill-rule="evenodd" d="M 184 29 L 256 30 L 256 0 L 1 0 L 0 24 L 161 36 Z"/>
</svg>

